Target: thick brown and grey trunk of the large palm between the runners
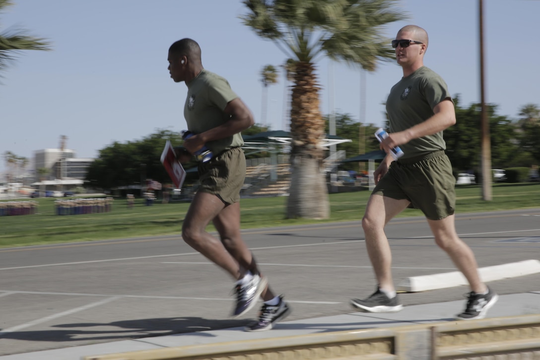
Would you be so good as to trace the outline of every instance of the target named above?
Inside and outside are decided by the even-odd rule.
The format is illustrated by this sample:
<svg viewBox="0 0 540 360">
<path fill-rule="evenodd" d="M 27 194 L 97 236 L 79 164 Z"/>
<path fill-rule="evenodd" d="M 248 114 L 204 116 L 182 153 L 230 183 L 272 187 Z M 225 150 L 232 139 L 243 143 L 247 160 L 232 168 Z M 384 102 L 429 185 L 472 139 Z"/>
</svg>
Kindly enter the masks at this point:
<svg viewBox="0 0 540 360">
<path fill-rule="evenodd" d="M 313 64 L 296 64 L 291 103 L 291 188 L 287 218 L 330 216 L 326 176 L 322 168 L 325 122 L 319 109 L 319 86 Z"/>
</svg>

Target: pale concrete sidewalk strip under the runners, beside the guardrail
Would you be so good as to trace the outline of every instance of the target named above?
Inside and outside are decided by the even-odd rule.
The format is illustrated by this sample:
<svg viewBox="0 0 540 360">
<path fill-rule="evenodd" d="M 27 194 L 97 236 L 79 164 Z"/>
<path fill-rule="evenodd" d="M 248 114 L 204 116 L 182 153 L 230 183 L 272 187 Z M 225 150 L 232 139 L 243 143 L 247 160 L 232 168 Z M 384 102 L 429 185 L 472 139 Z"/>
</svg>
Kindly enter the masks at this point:
<svg viewBox="0 0 540 360">
<path fill-rule="evenodd" d="M 242 328 L 201 331 L 0 356 L 0 360 L 80 360 L 83 356 L 163 349 L 176 346 L 322 334 L 344 330 L 387 328 L 390 326 L 413 324 L 455 322 L 453 316 L 457 312 L 460 312 L 463 306 L 464 301 L 460 300 L 406 306 L 400 312 L 388 314 L 351 312 L 344 315 L 284 321 L 277 324 L 270 331 L 245 332 Z M 498 302 L 489 311 L 487 318 L 529 314 L 540 314 L 540 291 L 501 295 Z"/>
</svg>

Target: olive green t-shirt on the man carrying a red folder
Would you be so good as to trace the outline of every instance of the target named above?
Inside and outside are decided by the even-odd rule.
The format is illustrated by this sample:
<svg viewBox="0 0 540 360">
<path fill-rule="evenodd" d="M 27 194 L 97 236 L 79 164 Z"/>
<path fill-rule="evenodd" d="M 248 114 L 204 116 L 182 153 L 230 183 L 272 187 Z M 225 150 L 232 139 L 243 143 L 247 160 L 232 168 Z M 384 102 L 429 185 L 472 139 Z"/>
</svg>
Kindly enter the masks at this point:
<svg viewBox="0 0 540 360">
<path fill-rule="evenodd" d="M 184 117 L 187 129 L 194 134 L 213 129 L 230 119 L 224 110 L 227 104 L 238 97 L 227 80 L 213 72 L 204 70 L 186 82 L 187 97 Z M 242 146 L 244 140 L 240 132 L 222 139 L 206 143 L 214 156 L 221 151 Z"/>
</svg>

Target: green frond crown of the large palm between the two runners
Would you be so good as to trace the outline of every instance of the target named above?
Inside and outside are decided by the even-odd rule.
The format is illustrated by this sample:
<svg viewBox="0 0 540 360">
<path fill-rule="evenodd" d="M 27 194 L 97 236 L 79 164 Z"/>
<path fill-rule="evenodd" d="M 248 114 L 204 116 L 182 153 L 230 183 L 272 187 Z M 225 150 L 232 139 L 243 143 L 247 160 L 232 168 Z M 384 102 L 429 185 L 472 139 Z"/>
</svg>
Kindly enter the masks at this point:
<svg viewBox="0 0 540 360">
<path fill-rule="evenodd" d="M 394 59 L 385 26 L 406 19 L 398 0 L 244 0 L 243 17 L 288 57 L 312 62 L 322 56 L 374 71 Z M 293 56 L 291 56 L 293 55 Z"/>
</svg>

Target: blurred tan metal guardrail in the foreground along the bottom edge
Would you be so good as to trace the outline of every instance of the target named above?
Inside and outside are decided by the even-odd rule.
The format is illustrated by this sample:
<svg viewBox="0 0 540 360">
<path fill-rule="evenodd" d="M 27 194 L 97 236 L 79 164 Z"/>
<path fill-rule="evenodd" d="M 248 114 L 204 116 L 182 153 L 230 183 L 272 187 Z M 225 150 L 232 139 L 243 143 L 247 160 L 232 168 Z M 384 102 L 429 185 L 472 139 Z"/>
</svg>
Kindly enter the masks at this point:
<svg viewBox="0 0 540 360">
<path fill-rule="evenodd" d="M 120 352 L 82 360 L 416 360 L 501 354 L 536 358 L 539 348 L 540 315 L 524 315 Z"/>
</svg>

